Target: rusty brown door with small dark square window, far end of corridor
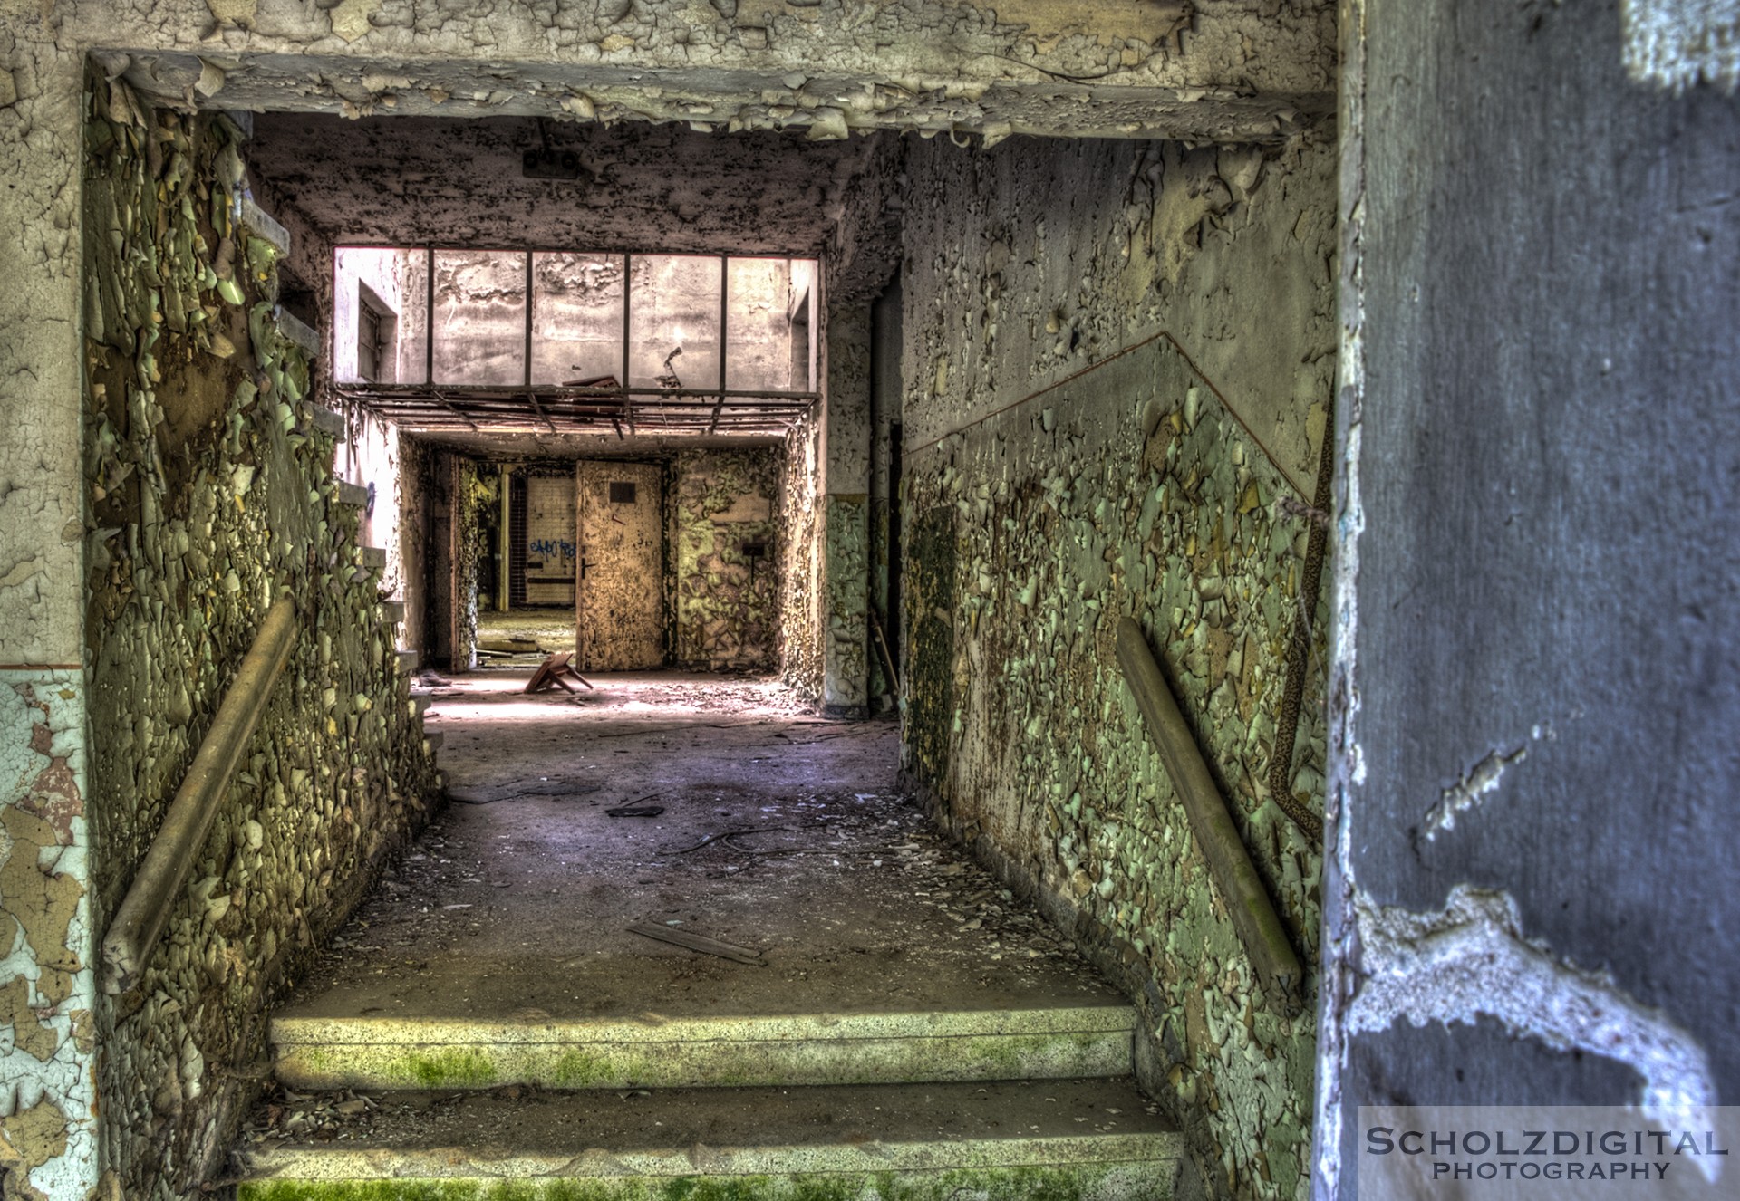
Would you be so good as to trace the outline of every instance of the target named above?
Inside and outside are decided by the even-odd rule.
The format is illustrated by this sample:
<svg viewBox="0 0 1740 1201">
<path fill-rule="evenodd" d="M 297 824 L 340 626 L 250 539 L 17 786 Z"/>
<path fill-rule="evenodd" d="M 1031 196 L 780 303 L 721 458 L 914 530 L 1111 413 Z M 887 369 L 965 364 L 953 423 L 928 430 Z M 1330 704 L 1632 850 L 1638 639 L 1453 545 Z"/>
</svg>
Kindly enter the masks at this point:
<svg viewBox="0 0 1740 1201">
<path fill-rule="evenodd" d="M 665 662 L 659 468 L 581 461 L 579 587 L 574 641 L 581 671 L 640 671 Z"/>
</svg>

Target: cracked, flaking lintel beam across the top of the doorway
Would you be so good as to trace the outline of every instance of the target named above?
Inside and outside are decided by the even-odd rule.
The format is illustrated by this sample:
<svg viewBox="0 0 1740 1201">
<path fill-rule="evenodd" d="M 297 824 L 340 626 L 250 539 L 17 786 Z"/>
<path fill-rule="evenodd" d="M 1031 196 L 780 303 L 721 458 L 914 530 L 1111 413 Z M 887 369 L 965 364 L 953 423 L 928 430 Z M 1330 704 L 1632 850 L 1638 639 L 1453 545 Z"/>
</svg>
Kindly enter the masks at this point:
<svg viewBox="0 0 1740 1201">
<path fill-rule="evenodd" d="M 1329 118 L 1319 0 L 134 0 L 75 36 L 158 103 L 343 116 L 1279 141 Z M 89 28 L 85 28 L 89 26 Z"/>
</svg>

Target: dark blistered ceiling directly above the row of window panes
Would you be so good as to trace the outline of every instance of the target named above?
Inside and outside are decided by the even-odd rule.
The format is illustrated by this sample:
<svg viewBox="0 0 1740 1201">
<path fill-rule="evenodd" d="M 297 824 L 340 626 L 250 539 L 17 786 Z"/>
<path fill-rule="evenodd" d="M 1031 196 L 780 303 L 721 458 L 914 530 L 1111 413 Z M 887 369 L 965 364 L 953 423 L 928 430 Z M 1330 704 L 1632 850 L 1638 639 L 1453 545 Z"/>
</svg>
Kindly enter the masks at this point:
<svg viewBox="0 0 1740 1201">
<path fill-rule="evenodd" d="M 332 242 L 814 254 L 875 137 L 261 113 L 249 160 Z M 579 179 L 525 179 L 546 144 Z"/>
</svg>

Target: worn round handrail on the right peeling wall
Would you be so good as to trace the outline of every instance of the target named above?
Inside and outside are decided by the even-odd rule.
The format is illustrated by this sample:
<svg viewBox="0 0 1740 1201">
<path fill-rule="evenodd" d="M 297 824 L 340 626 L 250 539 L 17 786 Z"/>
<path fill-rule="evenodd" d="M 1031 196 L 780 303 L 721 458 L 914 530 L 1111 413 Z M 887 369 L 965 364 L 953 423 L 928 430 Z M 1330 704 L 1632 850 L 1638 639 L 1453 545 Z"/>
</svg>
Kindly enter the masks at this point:
<svg viewBox="0 0 1740 1201">
<path fill-rule="evenodd" d="M 1270 999 L 1288 1013 L 1298 1013 L 1305 972 L 1293 952 L 1293 942 L 1281 925 L 1281 916 L 1275 914 L 1262 876 L 1256 874 L 1244 839 L 1239 838 L 1239 827 L 1232 824 L 1232 813 L 1227 812 L 1195 737 L 1178 711 L 1178 700 L 1161 674 L 1161 666 L 1154 662 L 1148 638 L 1131 617 L 1117 622 L 1117 660 L 1141 709 L 1148 737 L 1154 739 L 1161 763 L 1166 765 L 1166 775 L 1173 780 L 1173 791 L 1185 806 L 1190 833 L 1202 848 L 1209 876 L 1215 878 L 1215 886 L 1227 904 L 1232 926 L 1244 944 L 1256 979 Z"/>
</svg>

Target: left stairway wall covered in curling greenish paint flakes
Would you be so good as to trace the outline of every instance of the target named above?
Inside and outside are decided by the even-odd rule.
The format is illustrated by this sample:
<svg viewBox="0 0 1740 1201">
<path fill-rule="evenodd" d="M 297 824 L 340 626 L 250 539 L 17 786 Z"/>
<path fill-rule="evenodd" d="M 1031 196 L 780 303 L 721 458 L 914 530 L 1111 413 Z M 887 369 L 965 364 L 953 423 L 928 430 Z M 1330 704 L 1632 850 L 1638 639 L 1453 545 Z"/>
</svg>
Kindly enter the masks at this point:
<svg viewBox="0 0 1740 1201">
<path fill-rule="evenodd" d="M 167 1199 L 219 1175 L 263 1079 L 275 991 L 426 813 L 433 760 L 378 574 L 357 556 L 358 511 L 336 495 L 334 441 L 311 422 L 306 356 L 271 316 L 275 252 L 231 219 L 240 132 L 151 111 L 118 82 L 97 83 L 90 104 L 85 657 L 103 753 L 85 808 L 97 928 L 271 600 L 296 596 L 301 624 L 144 979 L 96 1006 L 104 1187 Z"/>
</svg>

